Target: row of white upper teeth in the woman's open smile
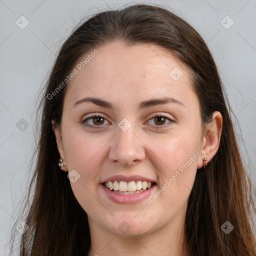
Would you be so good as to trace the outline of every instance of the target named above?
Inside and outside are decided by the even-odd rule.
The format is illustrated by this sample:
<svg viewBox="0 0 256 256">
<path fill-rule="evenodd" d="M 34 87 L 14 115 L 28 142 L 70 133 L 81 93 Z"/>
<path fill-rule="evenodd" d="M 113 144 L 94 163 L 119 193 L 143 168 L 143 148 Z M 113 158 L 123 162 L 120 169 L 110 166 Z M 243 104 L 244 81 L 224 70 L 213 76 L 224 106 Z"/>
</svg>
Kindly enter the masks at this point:
<svg viewBox="0 0 256 256">
<path fill-rule="evenodd" d="M 139 190 L 145 190 L 151 187 L 151 182 L 147 182 L 147 181 L 130 181 L 130 182 L 126 182 L 126 181 L 122 181 L 120 180 L 119 182 L 117 180 L 114 180 L 114 182 L 108 181 L 104 183 L 105 186 L 107 188 L 109 188 L 110 190 L 114 190 L 119 192 L 123 192 L 124 194 L 130 194 L 129 192 L 133 193 L 137 193 L 139 192 Z M 125 193 L 127 192 L 127 193 Z"/>
</svg>

